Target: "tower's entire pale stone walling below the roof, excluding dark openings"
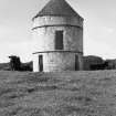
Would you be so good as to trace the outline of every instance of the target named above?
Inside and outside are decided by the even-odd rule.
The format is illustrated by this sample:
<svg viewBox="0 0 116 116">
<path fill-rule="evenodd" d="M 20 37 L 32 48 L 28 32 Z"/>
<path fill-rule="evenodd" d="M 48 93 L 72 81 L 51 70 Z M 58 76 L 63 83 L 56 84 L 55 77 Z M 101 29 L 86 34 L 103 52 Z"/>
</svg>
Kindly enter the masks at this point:
<svg viewBox="0 0 116 116">
<path fill-rule="evenodd" d="M 83 70 L 83 18 L 41 15 L 33 19 L 32 30 L 34 72 L 40 71 L 39 55 L 43 56 L 43 72 L 75 71 L 75 62 L 77 70 Z M 55 50 L 55 31 L 63 31 L 63 50 Z"/>
</svg>

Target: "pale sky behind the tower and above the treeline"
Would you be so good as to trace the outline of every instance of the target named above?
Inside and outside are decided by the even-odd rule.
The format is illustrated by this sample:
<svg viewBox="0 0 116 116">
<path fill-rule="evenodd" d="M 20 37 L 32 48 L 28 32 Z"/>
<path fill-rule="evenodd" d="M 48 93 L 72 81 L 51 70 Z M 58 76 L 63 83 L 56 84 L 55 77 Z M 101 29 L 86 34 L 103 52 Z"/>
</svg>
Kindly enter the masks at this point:
<svg viewBox="0 0 116 116">
<path fill-rule="evenodd" d="M 0 0 L 0 62 L 32 60 L 32 18 L 49 0 Z M 66 0 L 84 18 L 84 55 L 116 59 L 116 0 Z"/>
</svg>

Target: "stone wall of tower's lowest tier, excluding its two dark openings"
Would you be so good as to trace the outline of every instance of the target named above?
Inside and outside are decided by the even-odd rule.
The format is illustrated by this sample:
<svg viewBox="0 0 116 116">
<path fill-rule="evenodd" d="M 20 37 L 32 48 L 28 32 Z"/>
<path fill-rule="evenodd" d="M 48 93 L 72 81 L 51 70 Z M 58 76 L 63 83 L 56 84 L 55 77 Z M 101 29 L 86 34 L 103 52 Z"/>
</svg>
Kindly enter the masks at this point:
<svg viewBox="0 0 116 116">
<path fill-rule="evenodd" d="M 83 68 L 82 54 L 71 52 L 49 52 L 34 54 L 34 72 L 39 72 L 39 55 L 43 55 L 43 71 L 75 71 L 75 55 L 78 55 L 78 70 Z"/>
</svg>

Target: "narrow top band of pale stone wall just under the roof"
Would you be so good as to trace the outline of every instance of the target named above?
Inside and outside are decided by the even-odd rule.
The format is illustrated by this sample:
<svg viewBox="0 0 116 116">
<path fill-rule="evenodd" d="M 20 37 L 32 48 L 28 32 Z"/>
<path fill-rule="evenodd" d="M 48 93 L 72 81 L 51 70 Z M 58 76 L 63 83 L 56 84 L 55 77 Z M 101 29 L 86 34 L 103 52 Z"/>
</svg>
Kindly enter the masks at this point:
<svg viewBox="0 0 116 116">
<path fill-rule="evenodd" d="M 74 25 L 83 28 L 83 19 L 81 17 L 39 17 L 33 20 L 33 29 L 44 25 Z"/>
</svg>

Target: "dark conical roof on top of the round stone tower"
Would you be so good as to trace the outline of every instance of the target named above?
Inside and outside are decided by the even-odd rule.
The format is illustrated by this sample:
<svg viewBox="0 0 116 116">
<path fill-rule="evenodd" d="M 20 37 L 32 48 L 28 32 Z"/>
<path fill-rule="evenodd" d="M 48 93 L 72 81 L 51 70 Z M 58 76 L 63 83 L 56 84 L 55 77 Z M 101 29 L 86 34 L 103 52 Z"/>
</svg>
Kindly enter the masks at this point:
<svg viewBox="0 0 116 116">
<path fill-rule="evenodd" d="M 78 14 L 65 0 L 50 0 L 50 2 L 34 18 L 43 15 L 77 17 Z"/>
</svg>

